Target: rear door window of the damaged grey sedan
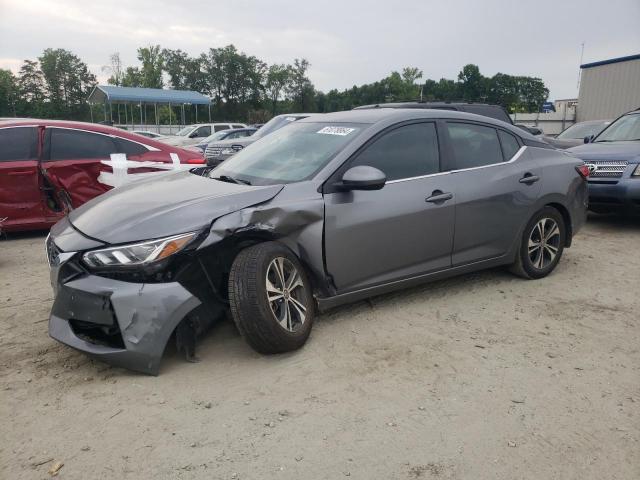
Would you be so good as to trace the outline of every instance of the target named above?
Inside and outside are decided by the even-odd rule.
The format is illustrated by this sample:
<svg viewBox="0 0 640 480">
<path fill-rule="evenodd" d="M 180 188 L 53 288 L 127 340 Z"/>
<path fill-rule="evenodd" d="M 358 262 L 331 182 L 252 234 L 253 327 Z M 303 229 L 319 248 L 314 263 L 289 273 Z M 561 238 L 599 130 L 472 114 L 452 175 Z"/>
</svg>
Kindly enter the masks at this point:
<svg viewBox="0 0 640 480">
<path fill-rule="evenodd" d="M 475 168 L 503 161 L 495 128 L 473 123 L 447 122 L 455 168 Z"/>
</svg>

